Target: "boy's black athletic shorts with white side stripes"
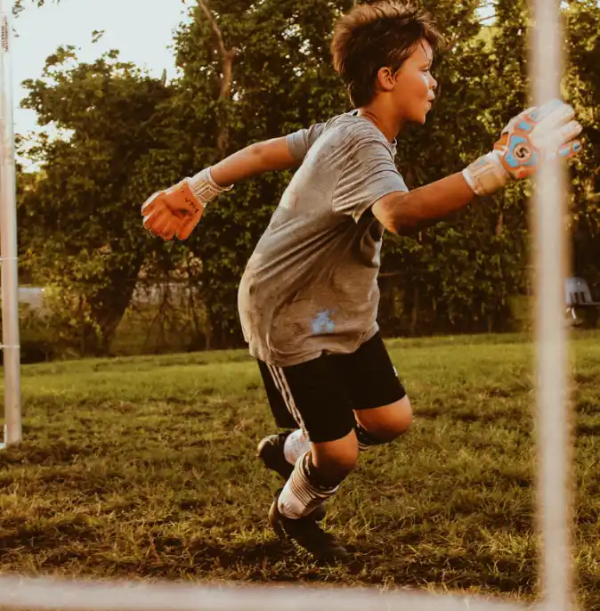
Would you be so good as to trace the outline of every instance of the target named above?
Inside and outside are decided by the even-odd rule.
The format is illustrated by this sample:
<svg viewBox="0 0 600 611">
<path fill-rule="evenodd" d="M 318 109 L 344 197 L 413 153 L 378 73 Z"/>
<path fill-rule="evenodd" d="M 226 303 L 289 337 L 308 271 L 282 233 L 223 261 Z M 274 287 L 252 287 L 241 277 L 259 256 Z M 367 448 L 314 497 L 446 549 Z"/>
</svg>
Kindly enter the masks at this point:
<svg viewBox="0 0 600 611">
<path fill-rule="evenodd" d="M 275 422 L 303 428 L 316 443 L 341 439 L 355 424 L 353 410 L 369 410 L 406 395 L 379 333 L 353 354 L 275 367 L 258 361 Z"/>
</svg>

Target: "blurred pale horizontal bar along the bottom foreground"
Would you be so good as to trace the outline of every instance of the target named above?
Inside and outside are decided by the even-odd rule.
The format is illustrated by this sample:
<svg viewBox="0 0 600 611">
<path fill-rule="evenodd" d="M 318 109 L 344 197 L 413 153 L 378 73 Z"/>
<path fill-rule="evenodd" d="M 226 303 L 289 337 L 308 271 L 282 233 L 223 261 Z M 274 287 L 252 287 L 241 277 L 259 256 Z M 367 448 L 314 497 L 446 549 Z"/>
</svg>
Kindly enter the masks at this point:
<svg viewBox="0 0 600 611">
<path fill-rule="evenodd" d="M 75 611 L 523 611 L 535 607 L 451 594 L 302 586 L 202 587 L 0 577 L 0 607 Z"/>
</svg>

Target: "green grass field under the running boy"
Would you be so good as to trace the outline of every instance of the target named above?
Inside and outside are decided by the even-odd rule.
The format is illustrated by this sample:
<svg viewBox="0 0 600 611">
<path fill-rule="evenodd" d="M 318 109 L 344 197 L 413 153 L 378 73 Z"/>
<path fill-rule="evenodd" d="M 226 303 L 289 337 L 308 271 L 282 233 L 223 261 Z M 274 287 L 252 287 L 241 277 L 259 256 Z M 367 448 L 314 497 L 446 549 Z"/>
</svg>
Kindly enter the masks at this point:
<svg viewBox="0 0 600 611">
<path fill-rule="evenodd" d="M 600 336 L 572 338 L 574 564 L 600 608 Z M 393 340 L 416 419 L 361 454 L 327 524 L 356 559 L 317 566 L 266 524 L 273 431 L 244 351 L 26 366 L 23 434 L 0 452 L 2 573 L 321 582 L 531 599 L 537 580 L 533 347 Z"/>
</svg>

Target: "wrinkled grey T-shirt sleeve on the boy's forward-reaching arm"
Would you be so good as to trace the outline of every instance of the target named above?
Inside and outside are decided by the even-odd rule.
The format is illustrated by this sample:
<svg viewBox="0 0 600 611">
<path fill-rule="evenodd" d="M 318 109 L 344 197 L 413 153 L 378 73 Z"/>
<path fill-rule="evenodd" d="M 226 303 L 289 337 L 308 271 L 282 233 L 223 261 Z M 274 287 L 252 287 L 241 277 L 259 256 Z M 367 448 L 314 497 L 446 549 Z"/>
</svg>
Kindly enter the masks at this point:
<svg viewBox="0 0 600 611">
<path fill-rule="evenodd" d="M 393 152 L 381 140 L 369 139 L 348 151 L 345 169 L 337 183 L 332 201 L 337 214 L 361 216 L 385 195 L 409 191 L 393 162 Z"/>
</svg>

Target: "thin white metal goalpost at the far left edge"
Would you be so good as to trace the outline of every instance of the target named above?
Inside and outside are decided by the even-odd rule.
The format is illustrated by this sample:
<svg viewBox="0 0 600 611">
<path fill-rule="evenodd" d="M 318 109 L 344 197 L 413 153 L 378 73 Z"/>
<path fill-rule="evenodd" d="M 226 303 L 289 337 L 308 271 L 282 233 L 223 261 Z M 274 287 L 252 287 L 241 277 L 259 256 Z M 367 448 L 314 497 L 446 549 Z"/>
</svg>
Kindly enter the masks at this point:
<svg viewBox="0 0 600 611">
<path fill-rule="evenodd" d="M 0 0 L 0 248 L 4 349 L 4 442 L 21 440 L 17 202 L 12 119 L 12 0 Z"/>
</svg>

